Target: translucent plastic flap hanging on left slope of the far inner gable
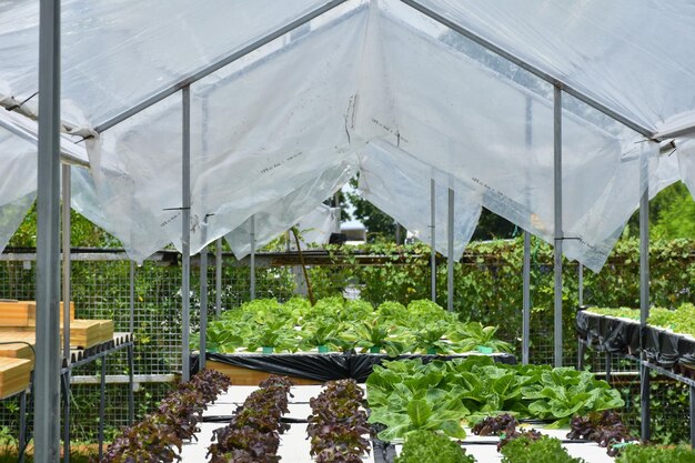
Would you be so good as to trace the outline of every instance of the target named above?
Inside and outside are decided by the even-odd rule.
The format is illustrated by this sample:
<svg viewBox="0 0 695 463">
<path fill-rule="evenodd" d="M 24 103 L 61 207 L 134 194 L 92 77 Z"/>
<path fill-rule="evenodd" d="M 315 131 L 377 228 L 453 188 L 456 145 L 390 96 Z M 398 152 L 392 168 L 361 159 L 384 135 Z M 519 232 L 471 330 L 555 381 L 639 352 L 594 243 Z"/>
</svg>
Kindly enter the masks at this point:
<svg viewBox="0 0 695 463">
<path fill-rule="evenodd" d="M 354 164 L 356 164 L 354 159 L 341 162 L 274 202 L 270 208 L 256 212 L 254 214 L 256 249 L 264 246 L 298 222 L 302 224 L 300 231 L 304 227 L 310 229 L 308 233 L 311 233 L 311 229 L 315 230 L 313 236 L 302 233 L 305 242 L 320 240 L 321 243 L 328 243 L 330 232 L 326 233 L 324 230 L 332 229 L 335 220 L 331 208 L 321 202 L 340 190 L 354 175 Z M 236 259 L 242 259 L 251 252 L 250 236 L 250 219 L 224 236 Z"/>
</svg>

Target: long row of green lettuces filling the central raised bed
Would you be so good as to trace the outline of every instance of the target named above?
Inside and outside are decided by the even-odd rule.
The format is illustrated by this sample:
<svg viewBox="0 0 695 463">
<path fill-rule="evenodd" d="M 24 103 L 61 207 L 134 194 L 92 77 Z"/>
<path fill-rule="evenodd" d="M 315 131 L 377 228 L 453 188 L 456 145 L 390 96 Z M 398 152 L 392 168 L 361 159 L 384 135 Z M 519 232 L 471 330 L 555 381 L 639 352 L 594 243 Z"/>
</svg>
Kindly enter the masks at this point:
<svg viewBox="0 0 695 463">
<path fill-rule="evenodd" d="M 224 312 L 208 326 L 208 349 L 231 353 L 240 348 L 255 352 L 406 352 L 429 354 L 482 350 L 508 352 L 511 345 L 495 339 L 494 326 L 462 322 L 429 300 L 407 306 L 384 302 L 374 309 L 365 301 L 325 298 L 311 305 L 294 298 L 284 304 L 256 300 Z"/>
</svg>

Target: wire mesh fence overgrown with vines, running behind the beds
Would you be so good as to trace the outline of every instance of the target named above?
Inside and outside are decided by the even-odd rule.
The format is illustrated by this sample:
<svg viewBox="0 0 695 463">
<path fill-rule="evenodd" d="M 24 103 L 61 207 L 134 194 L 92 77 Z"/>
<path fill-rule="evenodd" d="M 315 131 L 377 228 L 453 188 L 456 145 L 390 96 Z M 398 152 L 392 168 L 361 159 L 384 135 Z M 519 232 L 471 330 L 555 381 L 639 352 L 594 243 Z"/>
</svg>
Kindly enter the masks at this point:
<svg viewBox="0 0 695 463">
<path fill-rule="evenodd" d="M 138 381 L 135 393 L 137 416 L 142 416 L 152 410 L 161 396 L 171 387 L 171 382 L 181 371 L 181 268 L 180 256 L 175 252 L 155 255 L 142 265 L 134 268 L 133 286 L 133 325 L 135 335 L 134 349 L 134 374 Z M 208 312 L 209 319 L 216 311 L 215 299 L 218 283 L 215 282 L 214 254 L 210 254 L 210 264 L 207 276 L 209 281 Z M 191 273 L 191 331 L 197 332 L 200 320 L 200 266 L 199 260 L 192 260 Z M 251 299 L 250 294 L 250 269 L 248 261 L 236 261 L 230 254 L 224 254 L 222 260 L 222 278 L 220 286 L 221 310 L 230 310 L 241 305 Z M 420 265 L 420 266 L 417 266 Z M 430 270 L 427 262 L 419 263 L 409 270 L 409 278 L 413 281 L 412 286 L 429 288 Z M 521 358 L 521 323 L 522 323 L 522 288 L 514 286 L 505 290 L 498 282 L 504 279 L 504 263 L 474 262 L 469 266 L 456 268 L 455 299 L 456 309 L 464 318 L 480 320 L 484 324 L 500 325 L 498 338 L 511 341 L 516 346 L 516 355 Z M 366 268 L 370 268 L 369 265 Z M 379 264 L 371 266 L 370 271 L 359 272 L 351 265 L 325 265 L 320 272 L 312 274 L 314 291 L 319 296 L 335 293 L 350 292 L 355 296 L 362 292 L 369 296 L 370 302 L 379 304 L 389 299 L 399 299 L 397 291 L 387 288 L 393 275 L 389 272 L 402 271 L 397 265 Z M 445 264 L 440 264 L 439 273 L 445 274 Z M 514 271 L 514 270 L 512 270 Z M 384 273 L 385 272 L 385 273 Z M 487 286 L 467 285 L 467 279 L 473 272 L 484 272 L 490 279 Z M 567 269 L 570 278 L 566 291 L 576 291 L 576 282 L 572 275 L 576 268 Z M 357 276 L 357 273 L 360 276 Z M 371 276 L 370 276 L 371 274 Z M 101 252 L 94 254 L 78 254 L 72 262 L 72 300 L 75 303 L 75 315 L 79 319 L 110 319 L 114 322 L 115 331 L 125 332 L 130 329 L 131 310 L 131 263 L 122 253 Z M 535 268 L 534 285 L 541 288 L 544 280 L 552 279 L 552 272 L 542 265 Z M 445 303 L 446 289 L 445 278 L 439 278 L 440 303 Z M 260 260 L 255 270 L 255 296 L 275 298 L 280 301 L 290 299 L 295 292 L 302 292 L 303 275 L 296 265 L 274 265 Z M 383 288 L 382 288 L 383 286 Z M 407 285 L 406 285 L 407 286 Z M 409 286 L 410 288 L 410 286 Z M 405 292 L 410 291 L 405 288 Z M 414 294 L 412 298 L 427 296 Z M 488 300 L 494 305 L 476 306 L 470 303 L 475 291 L 488 291 Z M 537 290 L 536 290 L 537 292 Z M 0 261 L 0 298 L 17 300 L 33 300 L 36 294 L 36 268 L 32 256 L 3 255 Z M 536 305 L 536 304 L 534 304 Z M 531 362 L 535 364 L 553 363 L 553 312 L 548 304 L 537 304 L 532 311 L 532 343 Z M 510 308 L 516 308 L 510 310 Z M 576 365 L 577 345 L 574 338 L 573 320 L 574 306 L 565 306 L 565 340 L 564 364 Z M 605 371 L 605 356 L 587 354 L 586 365 L 594 372 Z M 634 370 L 633 370 L 634 369 Z M 71 429 L 75 441 L 90 441 L 95 436 L 98 425 L 99 385 L 97 376 L 100 366 L 98 363 L 88 364 L 73 372 L 72 385 L 72 420 Z M 615 372 L 636 372 L 635 365 L 628 361 L 613 362 Z M 107 416 L 108 432 L 113 433 L 128 422 L 128 385 L 118 382 L 123 381 L 127 374 L 127 356 L 120 352 L 108 358 L 107 373 L 109 384 L 107 390 Z M 120 378 L 120 379 L 119 379 Z M 616 375 L 622 383 L 621 387 L 626 399 L 625 415 L 632 423 L 638 424 L 638 379 L 634 374 Z M 625 379 L 631 379 L 629 381 Z M 635 381 L 637 381 L 635 383 Z M 659 379 L 659 381 L 665 381 Z M 657 382 L 655 384 L 665 384 Z M 662 413 L 662 419 L 655 419 L 656 425 L 664 430 L 662 435 L 676 439 L 687 439 L 678 430 L 687 430 L 687 390 L 674 386 L 653 386 L 653 413 L 658 416 L 658 404 L 676 403 L 677 411 L 671 416 L 681 420 L 681 424 L 674 425 L 668 416 Z M 683 410 L 681 410 L 683 405 Z M 674 410 L 676 410 L 674 409 Z M 8 432 L 17 429 L 17 401 L 2 402 L 0 407 L 0 425 L 6 426 Z M 638 429 L 638 427 L 635 427 Z M 110 430 L 110 431 L 109 431 Z"/>
</svg>

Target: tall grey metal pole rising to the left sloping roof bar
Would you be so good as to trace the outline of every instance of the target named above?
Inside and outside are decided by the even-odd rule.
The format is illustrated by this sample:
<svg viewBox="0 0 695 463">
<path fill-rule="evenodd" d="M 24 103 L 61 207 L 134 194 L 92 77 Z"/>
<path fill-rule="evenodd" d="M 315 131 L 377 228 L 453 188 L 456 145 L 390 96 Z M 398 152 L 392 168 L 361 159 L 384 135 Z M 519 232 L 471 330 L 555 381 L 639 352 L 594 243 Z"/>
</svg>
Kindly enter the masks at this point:
<svg viewBox="0 0 695 463">
<path fill-rule="evenodd" d="M 181 169 L 181 380 L 191 378 L 189 334 L 191 329 L 191 88 L 181 91 L 183 105 Z"/>
</svg>

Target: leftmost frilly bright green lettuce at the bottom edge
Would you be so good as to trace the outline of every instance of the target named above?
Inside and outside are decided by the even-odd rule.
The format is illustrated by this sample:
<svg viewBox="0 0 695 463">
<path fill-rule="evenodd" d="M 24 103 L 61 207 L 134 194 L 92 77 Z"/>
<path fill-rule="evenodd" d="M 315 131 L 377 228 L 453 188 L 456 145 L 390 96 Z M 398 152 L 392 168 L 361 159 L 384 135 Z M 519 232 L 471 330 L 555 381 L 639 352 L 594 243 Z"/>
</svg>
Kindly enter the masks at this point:
<svg viewBox="0 0 695 463">
<path fill-rule="evenodd" d="M 414 431 L 405 436 L 403 451 L 394 463 L 475 463 L 473 455 L 446 436 L 431 431 Z"/>
</svg>

